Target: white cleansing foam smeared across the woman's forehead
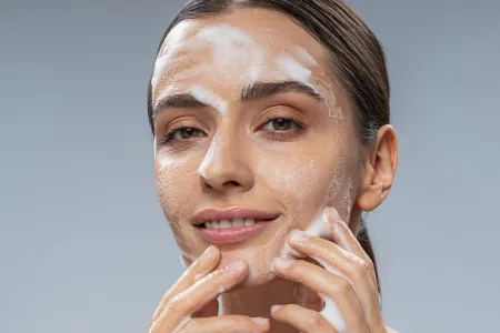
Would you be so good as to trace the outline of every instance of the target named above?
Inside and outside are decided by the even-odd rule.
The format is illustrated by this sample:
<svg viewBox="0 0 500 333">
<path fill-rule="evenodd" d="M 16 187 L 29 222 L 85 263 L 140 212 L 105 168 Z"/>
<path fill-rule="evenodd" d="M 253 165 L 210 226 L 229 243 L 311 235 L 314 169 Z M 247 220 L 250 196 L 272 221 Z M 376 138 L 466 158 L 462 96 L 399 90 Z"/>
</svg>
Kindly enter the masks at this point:
<svg viewBox="0 0 500 333">
<path fill-rule="evenodd" d="M 269 29 L 263 29 L 263 31 L 267 34 L 271 33 Z M 237 73 L 237 80 L 242 83 L 240 88 L 258 81 L 296 80 L 318 91 L 311 83 L 311 70 L 308 68 L 318 65 L 318 63 L 306 49 L 290 41 L 287 51 L 281 50 L 276 56 L 269 47 L 257 42 L 247 31 L 229 24 L 213 24 L 203 27 L 192 38 L 183 42 L 178 41 L 177 44 L 168 46 L 161 51 L 151 78 L 153 95 L 169 64 L 178 64 L 183 60 L 189 61 L 196 52 L 203 51 L 203 48 L 210 50 L 210 57 L 207 57 L 206 61 L 183 70 L 170 79 L 173 81 L 176 79 L 193 79 L 196 75 L 216 69 L 228 73 L 218 78 L 219 84 L 231 80 L 231 77 L 234 78 L 234 73 Z M 177 56 L 180 50 L 188 51 L 188 54 Z M 196 91 L 200 92 L 201 89 L 203 90 L 203 101 L 217 99 L 218 104 L 221 104 L 221 99 L 216 98 L 213 91 L 198 82 Z M 198 99 L 198 97 L 196 98 Z M 227 103 L 227 101 L 223 102 Z"/>
</svg>

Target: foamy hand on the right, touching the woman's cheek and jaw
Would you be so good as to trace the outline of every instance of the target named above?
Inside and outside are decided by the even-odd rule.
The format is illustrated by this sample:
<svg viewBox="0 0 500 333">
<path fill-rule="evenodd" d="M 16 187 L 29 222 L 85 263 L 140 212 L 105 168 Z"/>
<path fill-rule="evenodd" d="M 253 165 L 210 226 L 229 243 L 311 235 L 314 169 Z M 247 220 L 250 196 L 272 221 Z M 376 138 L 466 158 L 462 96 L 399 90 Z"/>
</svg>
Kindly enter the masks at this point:
<svg viewBox="0 0 500 333">
<path fill-rule="evenodd" d="M 299 230 L 293 230 L 288 238 L 293 250 L 323 268 L 306 260 L 274 260 L 276 273 L 298 283 L 296 296 L 304 306 L 273 305 L 272 317 L 307 333 L 394 332 L 382 320 L 372 261 L 331 208 L 328 219 L 334 243 Z"/>
</svg>

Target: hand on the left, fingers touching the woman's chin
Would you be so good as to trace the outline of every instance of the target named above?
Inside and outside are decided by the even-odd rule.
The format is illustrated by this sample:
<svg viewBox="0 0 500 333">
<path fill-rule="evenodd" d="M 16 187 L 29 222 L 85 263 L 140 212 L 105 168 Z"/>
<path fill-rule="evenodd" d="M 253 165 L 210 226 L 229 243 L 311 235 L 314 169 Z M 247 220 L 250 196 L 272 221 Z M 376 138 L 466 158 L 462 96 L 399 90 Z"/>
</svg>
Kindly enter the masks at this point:
<svg viewBox="0 0 500 333">
<path fill-rule="evenodd" d="M 151 319 L 148 333 L 268 332 L 268 319 L 220 315 L 217 297 L 248 275 L 243 260 L 218 268 L 220 252 L 214 245 L 194 261 L 163 295 Z"/>
</svg>

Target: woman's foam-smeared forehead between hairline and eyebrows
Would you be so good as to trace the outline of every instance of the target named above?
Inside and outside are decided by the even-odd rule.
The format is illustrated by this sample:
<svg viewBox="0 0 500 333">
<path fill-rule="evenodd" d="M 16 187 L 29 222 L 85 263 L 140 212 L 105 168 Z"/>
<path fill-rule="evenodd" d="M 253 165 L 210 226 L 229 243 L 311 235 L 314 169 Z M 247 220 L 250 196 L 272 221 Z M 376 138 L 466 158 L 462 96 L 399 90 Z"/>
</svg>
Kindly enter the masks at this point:
<svg viewBox="0 0 500 333">
<path fill-rule="evenodd" d="M 151 79 L 153 104 L 192 84 L 228 100 L 254 82 L 299 81 L 331 91 L 323 47 L 289 17 L 258 8 L 181 21 L 167 36 Z"/>
</svg>

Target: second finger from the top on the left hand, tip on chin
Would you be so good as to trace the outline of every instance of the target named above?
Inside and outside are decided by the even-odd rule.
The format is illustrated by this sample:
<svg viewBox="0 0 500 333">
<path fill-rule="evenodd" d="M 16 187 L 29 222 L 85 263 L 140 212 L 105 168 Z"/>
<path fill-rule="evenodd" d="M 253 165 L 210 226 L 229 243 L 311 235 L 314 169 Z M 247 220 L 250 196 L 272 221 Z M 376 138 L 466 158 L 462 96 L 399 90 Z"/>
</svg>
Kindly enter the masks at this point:
<svg viewBox="0 0 500 333">
<path fill-rule="evenodd" d="M 243 281 L 247 275 L 248 264 L 243 260 L 208 274 L 167 303 L 163 312 L 153 323 L 156 330 L 153 332 L 168 332 L 169 329 L 186 320 L 186 316 L 192 316 L 208 302 Z"/>
</svg>

